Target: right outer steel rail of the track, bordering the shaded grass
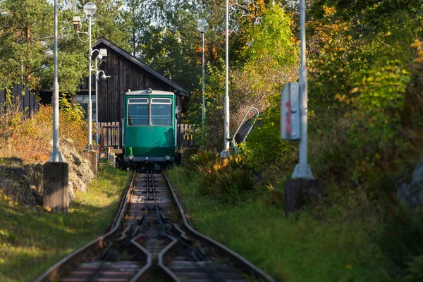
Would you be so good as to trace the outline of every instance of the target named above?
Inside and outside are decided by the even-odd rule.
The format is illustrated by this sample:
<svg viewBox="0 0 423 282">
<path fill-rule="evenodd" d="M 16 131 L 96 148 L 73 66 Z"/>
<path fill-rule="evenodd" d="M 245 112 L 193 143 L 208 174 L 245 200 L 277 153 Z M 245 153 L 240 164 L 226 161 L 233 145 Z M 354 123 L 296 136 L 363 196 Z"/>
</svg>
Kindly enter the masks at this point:
<svg viewBox="0 0 423 282">
<path fill-rule="evenodd" d="M 255 266 L 254 264 L 249 262 L 244 257 L 238 255 L 236 252 L 234 252 L 233 250 L 229 249 L 228 247 L 222 245 L 221 243 L 217 242 L 216 240 L 214 240 L 210 237 L 207 237 L 206 235 L 203 235 L 202 233 L 196 231 L 193 228 L 193 226 L 188 222 L 187 216 L 185 215 L 185 212 L 184 212 L 184 209 L 183 209 L 183 204 L 180 202 L 180 200 L 178 200 L 178 197 L 176 195 L 176 191 L 173 188 L 173 186 L 171 185 L 171 182 L 168 179 L 166 171 L 164 171 L 163 174 L 164 174 L 164 177 L 166 179 L 167 185 L 168 185 L 169 189 L 171 190 L 171 194 L 173 196 L 171 198 L 173 198 L 174 204 L 176 204 L 176 207 L 178 207 L 179 215 L 183 220 L 186 231 L 188 231 L 190 233 L 190 235 L 192 235 L 192 237 L 197 238 L 197 240 L 203 240 L 203 241 L 209 243 L 210 245 L 213 245 L 214 247 L 216 247 L 217 250 L 219 250 L 221 252 L 221 254 L 223 256 L 231 257 L 234 260 L 235 267 L 243 270 L 246 274 L 249 274 L 250 276 L 255 277 L 257 279 L 262 279 L 264 281 L 275 282 L 275 280 L 273 278 L 271 278 L 271 276 L 266 274 L 264 271 L 259 269 L 257 266 Z"/>
</svg>

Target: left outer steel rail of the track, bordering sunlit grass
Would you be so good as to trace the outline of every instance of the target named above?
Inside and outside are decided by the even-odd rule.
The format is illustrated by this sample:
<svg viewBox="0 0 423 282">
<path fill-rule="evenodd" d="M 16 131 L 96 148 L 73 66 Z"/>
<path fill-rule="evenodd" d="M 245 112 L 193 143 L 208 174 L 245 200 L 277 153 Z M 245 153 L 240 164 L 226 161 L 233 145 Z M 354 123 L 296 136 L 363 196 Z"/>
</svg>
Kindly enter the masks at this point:
<svg viewBox="0 0 423 282">
<path fill-rule="evenodd" d="M 92 253 L 94 253 L 96 250 L 99 250 L 104 247 L 107 241 L 111 240 L 119 234 L 119 227 L 121 226 L 123 216 L 125 215 L 126 209 L 128 208 L 130 195 L 132 192 L 130 188 L 132 186 L 131 184 L 133 184 L 135 180 L 135 174 L 136 173 L 134 172 L 133 176 L 131 177 L 130 183 L 128 184 L 128 187 L 125 190 L 125 197 L 119 205 L 118 212 L 114 218 L 114 224 L 112 224 L 113 228 L 111 228 L 111 230 L 105 235 L 102 235 L 99 238 L 92 240 L 92 242 L 87 243 L 83 247 L 80 247 L 78 250 L 75 250 L 75 252 L 72 252 L 66 257 L 63 257 L 63 259 L 61 259 L 59 262 L 47 269 L 44 274 L 39 276 L 35 280 L 35 282 L 54 281 L 54 279 L 63 274 L 65 271 L 71 269 L 74 264 L 77 264 L 78 262 L 82 261 L 82 259 L 86 259 L 87 257 L 89 257 L 89 255 L 92 255 Z"/>
</svg>

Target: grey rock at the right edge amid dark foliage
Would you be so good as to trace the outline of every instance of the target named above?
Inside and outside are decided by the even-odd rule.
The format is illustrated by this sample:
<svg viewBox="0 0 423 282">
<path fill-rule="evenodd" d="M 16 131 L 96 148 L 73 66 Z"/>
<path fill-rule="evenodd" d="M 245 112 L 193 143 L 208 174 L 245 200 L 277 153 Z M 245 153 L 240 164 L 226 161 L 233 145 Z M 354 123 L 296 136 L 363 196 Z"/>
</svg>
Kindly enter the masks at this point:
<svg viewBox="0 0 423 282">
<path fill-rule="evenodd" d="M 412 173 L 410 184 L 403 183 L 397 190 L 397 197 L 404 200 L 410 209 L 423 212 L 423 157 Z"/>
</svg>

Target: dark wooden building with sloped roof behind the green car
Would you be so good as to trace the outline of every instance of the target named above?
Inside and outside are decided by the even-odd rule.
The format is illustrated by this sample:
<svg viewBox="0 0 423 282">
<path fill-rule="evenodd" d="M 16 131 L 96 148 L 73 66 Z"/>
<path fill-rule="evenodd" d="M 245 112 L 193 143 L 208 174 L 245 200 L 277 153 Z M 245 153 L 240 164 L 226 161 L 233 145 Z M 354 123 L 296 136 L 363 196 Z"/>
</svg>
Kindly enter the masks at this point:
<svg viewBox="0 0 423 282">
<path fill-rule="evenodd" d="M 135 56 L 121 49 L 116 44 L 110 42 L 104 37 L 99 37 L 92 49 L 107 49 L 107 58 L 99 66 L 100 71 L 110 75 L 108 80 L 102 80 L 101 75 L 98 80 L 98 110 L 99 123 L 111 123 L 122 121 L 123 118 L 123 94 L 128 90 L 164 90 L 176 93 L 180 112 L 178 113 L 178 122 L 181 120 L 181 114 L 188 109 L 190 92 L 180 85 L 166 78 L 154 70 L 151 66 L 143 63 Z M 99 53 L 94 51 L 92 65 L 94 67 L 94 57 Z M 95 86 L 94 75 L 92 75 L 92 120 L 95 121 Z M 88 78 L 84 80 L 81 90 L 75 97 L 75 102 L 81 104 L 87 109 L 88 103 Z"/>
</svg>

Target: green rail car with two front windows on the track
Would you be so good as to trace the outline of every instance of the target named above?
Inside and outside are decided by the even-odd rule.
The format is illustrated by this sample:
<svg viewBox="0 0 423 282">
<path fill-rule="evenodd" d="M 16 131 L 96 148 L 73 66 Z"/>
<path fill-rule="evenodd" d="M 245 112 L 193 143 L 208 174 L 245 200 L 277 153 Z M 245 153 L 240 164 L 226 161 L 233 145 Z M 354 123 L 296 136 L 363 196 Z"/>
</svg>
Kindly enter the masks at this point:
<svg viewBox="0 0 423 282">
<path fill-rule="evenodd" d="M 125 161 L 171 163 L 176 147 L 176 99 L 165 91 L 134 91 L 124 95 Z"/>
</svg>

